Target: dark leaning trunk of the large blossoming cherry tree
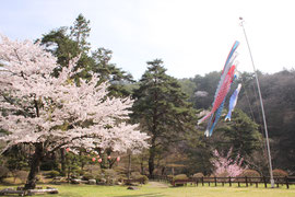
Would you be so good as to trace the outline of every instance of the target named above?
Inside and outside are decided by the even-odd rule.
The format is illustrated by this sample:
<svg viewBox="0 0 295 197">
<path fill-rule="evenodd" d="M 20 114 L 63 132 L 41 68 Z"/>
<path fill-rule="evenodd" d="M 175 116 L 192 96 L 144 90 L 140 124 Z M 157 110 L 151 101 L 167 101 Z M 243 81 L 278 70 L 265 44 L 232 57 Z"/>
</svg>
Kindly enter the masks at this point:
<svg viewBox="0 0 295 197">
<path fill-rule="evenodd" d="M 43 158 L 43 143 L 35 143 L 35 153 L 31 161 L 31 170 L 25 184 L 25 189 L 34 189 L 36 187 L 37 174 Z"/>
</svg>

